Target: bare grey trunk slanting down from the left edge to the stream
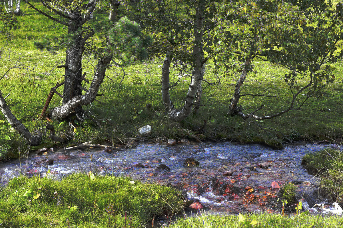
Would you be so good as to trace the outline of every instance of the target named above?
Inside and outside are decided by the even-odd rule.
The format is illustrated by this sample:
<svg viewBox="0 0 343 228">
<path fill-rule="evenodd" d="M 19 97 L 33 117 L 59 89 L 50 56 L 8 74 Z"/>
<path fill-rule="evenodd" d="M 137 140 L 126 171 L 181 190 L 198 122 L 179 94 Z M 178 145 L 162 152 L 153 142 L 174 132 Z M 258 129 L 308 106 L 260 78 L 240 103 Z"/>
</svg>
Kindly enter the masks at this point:
<svg viewBox="0 0 343 228">
<path fill-rule="evenodd" d="M 1 90 L 0 90 L 0 109 L 7 121 L 11 124 L 12 128 L 14 128 L 19 134 L 21 134 L 25 140 L 27 141 L 27 144 L 32 146 L 38 146 L 40 142 L 42 142 L 43 135 L 40 131 L 35 131 L 34 134 L 31 134 L 29 130 L 19 121 L 13 113 L 11 112 L 10 108 L 7 106 L 5 99 L 2 96 Z"/>
</svg>

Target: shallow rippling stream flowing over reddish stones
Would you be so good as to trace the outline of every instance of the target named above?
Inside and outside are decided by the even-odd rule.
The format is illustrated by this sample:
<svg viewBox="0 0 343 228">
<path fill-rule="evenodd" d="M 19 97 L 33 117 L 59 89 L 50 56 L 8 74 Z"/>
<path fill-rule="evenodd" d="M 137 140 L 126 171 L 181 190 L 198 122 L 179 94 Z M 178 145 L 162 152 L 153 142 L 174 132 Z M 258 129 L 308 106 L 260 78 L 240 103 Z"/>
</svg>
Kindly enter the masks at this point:
<svg viewBox="0 0 343 228">
<path fill-rule="evenodd" d="M 141 144 L 120 152 L 96 148 L 60 149 L 49 151 L 48 159 L 54 163 L 48 165 L 48 169 L 51 171 L 49 175 L 55 178 L 73 172 L 88 172 L 93 154 L 93 173 L 130 176 L 142 182 L 172 185 L 184 191 L 188 200 L 200 202 L 204 209 L 212 212 L 274 211 L 271 202 L 276 200 L 278 192 L 278 189 L 270 188 L 274 181 L 280 185 L 293 182 L 303 207 L 312 207 L 322 201 L 318 196 L 319 179 L 304 169 L 301 159 L 306 152 L 328 146 L 288 145 L 282 150 L 273 150 L 261 145 L 201 143 L 176 146 Z M 46 165 L 42 162 L 45 158 L 45 154 L 31 153 L 21 161 L 17 159 L 0 164 L 0 183 L 8 182 L 20 172 L 31 176 L 45 174 Z M 199 166 L 190 167 L 192 165 L 185 163 L 187 158 L 194 158 Z M 268 169 L 259 167 L 263 162 L 268 162 Z M 233 171 L 232 176 L 223 175 L 228 170 Z M 248 192 L 249 188 L 253 190 Z"/>
</svg>

